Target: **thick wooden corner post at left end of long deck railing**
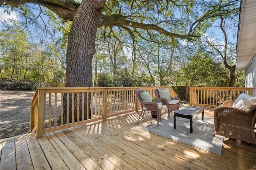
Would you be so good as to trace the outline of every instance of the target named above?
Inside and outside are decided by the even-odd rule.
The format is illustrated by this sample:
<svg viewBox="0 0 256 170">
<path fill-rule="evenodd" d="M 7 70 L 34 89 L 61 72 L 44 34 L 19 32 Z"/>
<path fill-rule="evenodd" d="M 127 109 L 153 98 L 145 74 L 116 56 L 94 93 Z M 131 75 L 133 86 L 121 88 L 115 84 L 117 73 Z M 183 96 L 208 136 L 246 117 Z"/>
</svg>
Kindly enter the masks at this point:
<svg viewBox="0 0 256 170">
<path fill-rule="evenodd" d="M 44 130 L 44 119 L 45 119 L 45 90 L 38 90 L 38 116 L 37 116 L 37 130 L 36 130 L 36 138 L 41 138 L 43 136 Z"/>
</svg>

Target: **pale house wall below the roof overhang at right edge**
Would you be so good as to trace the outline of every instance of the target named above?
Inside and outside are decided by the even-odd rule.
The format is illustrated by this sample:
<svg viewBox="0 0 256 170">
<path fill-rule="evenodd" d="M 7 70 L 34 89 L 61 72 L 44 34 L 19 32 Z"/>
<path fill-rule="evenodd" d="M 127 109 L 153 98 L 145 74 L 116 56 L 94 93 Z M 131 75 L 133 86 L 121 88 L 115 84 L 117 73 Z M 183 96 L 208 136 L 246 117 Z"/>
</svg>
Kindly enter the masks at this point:
<svg viewBox="0 0 256 170">
<path fill-rule="evenodd" d="M 256 54 L 252 57 L 252 64 L 245 71 L 245 87 L 254 87 L 252 95 L 256 96 Z"/>
</svg>

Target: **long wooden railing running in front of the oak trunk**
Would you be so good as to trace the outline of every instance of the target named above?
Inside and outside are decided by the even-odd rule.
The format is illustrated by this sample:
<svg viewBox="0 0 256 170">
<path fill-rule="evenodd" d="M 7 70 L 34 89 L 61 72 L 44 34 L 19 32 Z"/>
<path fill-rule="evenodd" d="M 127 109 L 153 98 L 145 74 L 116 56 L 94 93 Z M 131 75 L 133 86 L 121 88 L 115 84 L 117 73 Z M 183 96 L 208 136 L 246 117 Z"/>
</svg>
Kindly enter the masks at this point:
<svg viewBox="0 0 256 170">
<path fill-rule="evenodd" d="M 31 132 L 36 137 L 64 128 L 106 120 L 139 110 L 134 91 L 143 89 L 154 97 L 154 89 L 171 87 L 38 87 L 31 102 Z"/>
</svg>

